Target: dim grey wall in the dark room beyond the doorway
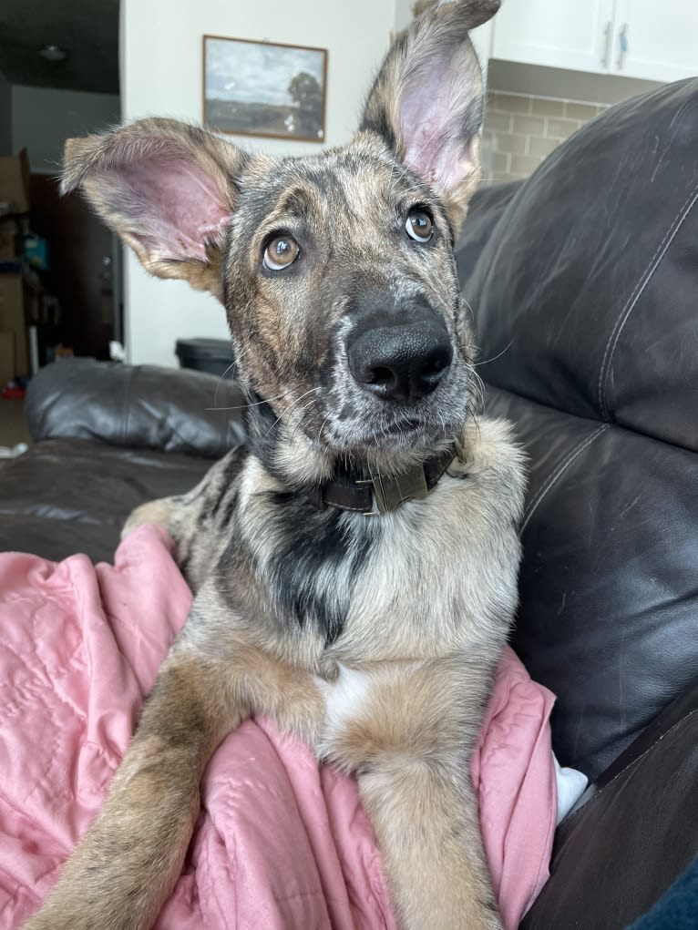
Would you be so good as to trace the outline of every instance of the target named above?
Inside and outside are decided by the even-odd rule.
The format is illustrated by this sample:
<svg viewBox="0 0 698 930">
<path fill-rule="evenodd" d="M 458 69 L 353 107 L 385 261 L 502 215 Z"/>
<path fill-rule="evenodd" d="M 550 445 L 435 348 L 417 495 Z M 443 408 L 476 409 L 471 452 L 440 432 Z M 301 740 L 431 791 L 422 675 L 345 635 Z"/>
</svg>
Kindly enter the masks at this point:
<svg viewBox="0 0 698 930">
<path fill-rule="evenodd" d="M 116 94 L 16 84 L 12 86 L 12 151 L 17 154 L 26 146 L 32 171 L 56 174 L 66 139 L 87 136 L 120 118 Z"/>
</svg>

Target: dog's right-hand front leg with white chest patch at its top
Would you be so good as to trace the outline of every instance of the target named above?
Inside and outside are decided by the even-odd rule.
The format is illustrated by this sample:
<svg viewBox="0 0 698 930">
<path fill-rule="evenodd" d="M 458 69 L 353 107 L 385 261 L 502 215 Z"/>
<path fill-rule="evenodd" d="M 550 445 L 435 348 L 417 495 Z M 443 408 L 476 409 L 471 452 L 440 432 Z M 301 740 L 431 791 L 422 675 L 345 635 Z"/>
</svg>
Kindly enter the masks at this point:
<svg viewBox="0 0 698 930">
<path fill-rule="evenodd" d="M 455 656 L 328 688 L 328 754 L 356 772 L 401 930 L 502 930 L 469 773 L 489 681 Z"/>
</svg>

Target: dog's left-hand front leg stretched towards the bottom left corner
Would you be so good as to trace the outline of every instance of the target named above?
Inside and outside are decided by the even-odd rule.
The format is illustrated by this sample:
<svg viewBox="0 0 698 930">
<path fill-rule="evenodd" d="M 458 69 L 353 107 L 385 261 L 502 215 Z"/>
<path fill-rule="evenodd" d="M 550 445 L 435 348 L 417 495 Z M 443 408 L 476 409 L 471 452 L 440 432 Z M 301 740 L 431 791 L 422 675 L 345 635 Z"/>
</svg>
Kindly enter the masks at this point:
<svg viewBox="0 0 698 930">
<path fill-rule="evenodd" d="M 199 780 L 247 709 L 220 668 L 174 652 L 146 702 L 100 816 L 27 930 L 139 930 L 154 923 L 181 872 Z"/>
</svg>

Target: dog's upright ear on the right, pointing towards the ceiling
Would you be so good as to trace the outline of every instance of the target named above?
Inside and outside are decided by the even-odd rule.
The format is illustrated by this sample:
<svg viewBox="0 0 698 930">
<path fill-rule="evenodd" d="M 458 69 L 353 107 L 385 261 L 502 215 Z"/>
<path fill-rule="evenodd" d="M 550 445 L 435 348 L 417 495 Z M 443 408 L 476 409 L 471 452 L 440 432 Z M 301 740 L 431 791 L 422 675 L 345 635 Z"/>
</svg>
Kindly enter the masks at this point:
<svg viewBox="0 0 698 930">
<path fill-rule="evenodd" d="M 482 73 L 468 33 L 499 7 L 453 0 L 414 20 L 385 57 L 360 126 L 435 188 L 456 229 L 480 178 Z"/>
</svg>

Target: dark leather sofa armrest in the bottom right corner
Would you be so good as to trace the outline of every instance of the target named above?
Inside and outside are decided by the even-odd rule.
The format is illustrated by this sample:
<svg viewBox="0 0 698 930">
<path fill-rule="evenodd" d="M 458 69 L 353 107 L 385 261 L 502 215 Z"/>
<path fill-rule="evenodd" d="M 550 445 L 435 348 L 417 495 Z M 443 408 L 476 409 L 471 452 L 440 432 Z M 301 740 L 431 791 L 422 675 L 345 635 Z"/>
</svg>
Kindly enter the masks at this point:
<svg viewBox="0 0 698 930">
<path fill-rule="evenodd" d="M 698 850 L 698 681 L 615 760 L 557 830 L 520 930 L 624 930 Z"/>
</svg>

